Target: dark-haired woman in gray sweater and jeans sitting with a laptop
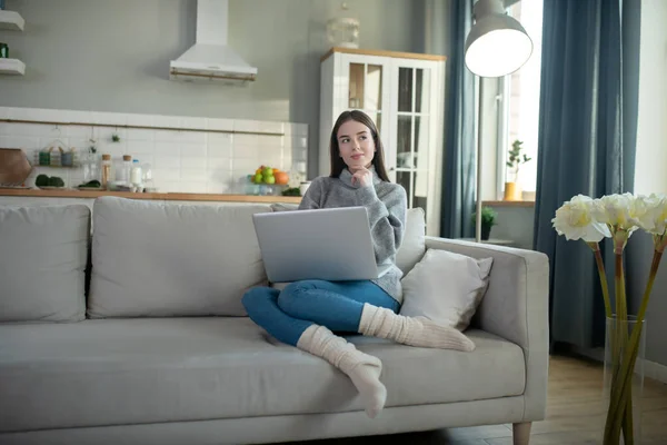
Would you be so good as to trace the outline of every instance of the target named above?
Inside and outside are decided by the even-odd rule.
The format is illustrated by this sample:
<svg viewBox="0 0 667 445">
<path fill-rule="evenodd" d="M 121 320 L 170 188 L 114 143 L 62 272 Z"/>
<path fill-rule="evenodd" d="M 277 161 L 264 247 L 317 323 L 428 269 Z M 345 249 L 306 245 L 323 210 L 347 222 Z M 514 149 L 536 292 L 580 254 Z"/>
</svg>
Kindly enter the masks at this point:
<svg viewBox="0 0 667 445">
<path fill-rule="evenodd" d="M 252 288 L 243 296 L 250 318 L 280 342 L 322 357 L 346 373 L 371 418 L 385 406 L 382 364 L 332 332 L 359 333 L 419 347 L 472 350 L 474 344 L 456 329 L 424 317 L 398 315 L 402 293 L 396 253 L 402 241 L 406 190 L 391 184 L 384 164 L 382 142 L 372 120 L 361 111 L 345 111 L 330 138 L 331 174 L 316 178 L 299 209 L 364 206 L 378 265 L 390 264 L 378 279 L 325 281 L 309 279 L 283 290 Z M 354 227 L 341 227 L 340 236 Z"/>
</svg>

